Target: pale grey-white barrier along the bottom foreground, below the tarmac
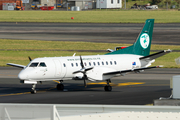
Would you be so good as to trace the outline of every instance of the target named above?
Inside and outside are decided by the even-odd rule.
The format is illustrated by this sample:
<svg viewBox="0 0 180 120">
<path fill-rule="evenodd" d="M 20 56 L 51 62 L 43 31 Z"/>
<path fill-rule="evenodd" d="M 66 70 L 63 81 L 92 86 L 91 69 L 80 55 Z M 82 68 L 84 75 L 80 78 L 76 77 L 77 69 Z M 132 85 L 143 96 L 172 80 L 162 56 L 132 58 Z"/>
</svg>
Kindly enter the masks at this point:
<svg viewBox="0 0 180 120">
<path fill-rule="evenodd" d="M 179 106 L 0 104 L 0 120 L 179 120 Z"/>
</svg>

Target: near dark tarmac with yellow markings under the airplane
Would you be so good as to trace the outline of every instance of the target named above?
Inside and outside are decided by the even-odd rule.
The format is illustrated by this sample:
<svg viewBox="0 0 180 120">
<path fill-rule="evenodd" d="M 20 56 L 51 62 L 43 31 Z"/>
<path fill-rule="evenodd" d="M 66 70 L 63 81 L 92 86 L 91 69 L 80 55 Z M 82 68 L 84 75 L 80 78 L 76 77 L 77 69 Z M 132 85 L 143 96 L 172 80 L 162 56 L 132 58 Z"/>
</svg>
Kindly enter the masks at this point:
<svg viewBox="0 0 180 120">
<path fill-rule="evenodd" d="M 104 91 L 104 82 L 64 81 L 65 90 L 56 90 L 56 81 L 37 85 L 37 94 L 30 94 L 31 85 L 20 84 L 21 69 L 0 67 L 0 103 L 44 104 L 116 104 L 144 105 L 154 99 L 171 95 L 170 78 L 179 69 L 151 69 L 140 74 L 128 74 L 112 79 L 113 90 Z"/>
</svg>

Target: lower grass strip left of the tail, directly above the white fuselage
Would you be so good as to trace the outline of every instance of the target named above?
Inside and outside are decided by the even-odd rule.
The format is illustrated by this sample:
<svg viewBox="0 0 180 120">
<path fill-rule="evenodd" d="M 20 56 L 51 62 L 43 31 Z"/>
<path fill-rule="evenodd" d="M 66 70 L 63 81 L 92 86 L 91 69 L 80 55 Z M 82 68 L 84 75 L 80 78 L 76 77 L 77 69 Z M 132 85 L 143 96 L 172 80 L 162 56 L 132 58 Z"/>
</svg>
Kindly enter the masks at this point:
<svg viewBox="0 0 180 120">
<path fill-rule="evenodd" d="M 32 59 L 38 57 L 61 57 L 72 56 L 76 51 L 0 51 L 0 66 L 7 66 L 6 63 L 16 63 L 21 65 L 27 65 L 29 63 L 28 56 Z M 99 55 L 105 53 L 98 53 Z M 79 55 L 97 55 L 95 52 L 78 52 Z"/>
</svg>

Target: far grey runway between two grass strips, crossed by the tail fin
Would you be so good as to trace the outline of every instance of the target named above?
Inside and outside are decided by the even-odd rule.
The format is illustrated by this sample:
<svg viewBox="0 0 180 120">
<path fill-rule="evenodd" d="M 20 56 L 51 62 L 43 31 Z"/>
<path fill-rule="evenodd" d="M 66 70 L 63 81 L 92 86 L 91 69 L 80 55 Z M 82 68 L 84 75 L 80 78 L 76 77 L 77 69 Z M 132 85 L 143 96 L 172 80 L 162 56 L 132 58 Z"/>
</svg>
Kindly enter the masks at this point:
<svg viewBox="0 0 180 120">
<path fill-rule="evenodd" d="M 143 24 L 0 23 L 0 39 L 132 44 Z M 153 44 L 180 45 L 180 24 L 155 24 Z"/>
</svg>

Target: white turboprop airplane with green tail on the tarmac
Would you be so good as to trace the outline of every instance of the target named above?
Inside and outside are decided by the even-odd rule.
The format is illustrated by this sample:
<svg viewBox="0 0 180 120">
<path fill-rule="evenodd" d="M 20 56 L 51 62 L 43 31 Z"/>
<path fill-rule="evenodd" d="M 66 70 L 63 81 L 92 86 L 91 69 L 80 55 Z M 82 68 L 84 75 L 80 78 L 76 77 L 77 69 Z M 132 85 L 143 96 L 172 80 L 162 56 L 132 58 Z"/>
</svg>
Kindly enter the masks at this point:
<svg viewBox="0 0 180 120">
<path fill-rule="evenodd" d="M 163 50 L 155 54 L 150 53 L 153 34 L 154 19 L 147 19 L 139 36 L 132 46 L 122 50 L 111 51 L 105 55 L 70 56 L 70 57 L 44 57 L 31 60 L 27 66 L 7 63 L 7 65 L 20 67 L 22 71 L 18 78 L 21 83 L 32 84 L 31 93 L 36 93 L 37 82 L 58 80 L 58 90 L 63 90 L 63 81 L 82 80 L 86 86 L 89 81 L 107 81 L 105 91 L 111 91 L 111 78 L 125 75 L 128 72 L 141 72 L 149 67 L 156 58 L 165 55 L 171 50 Z"/>
</svg>

